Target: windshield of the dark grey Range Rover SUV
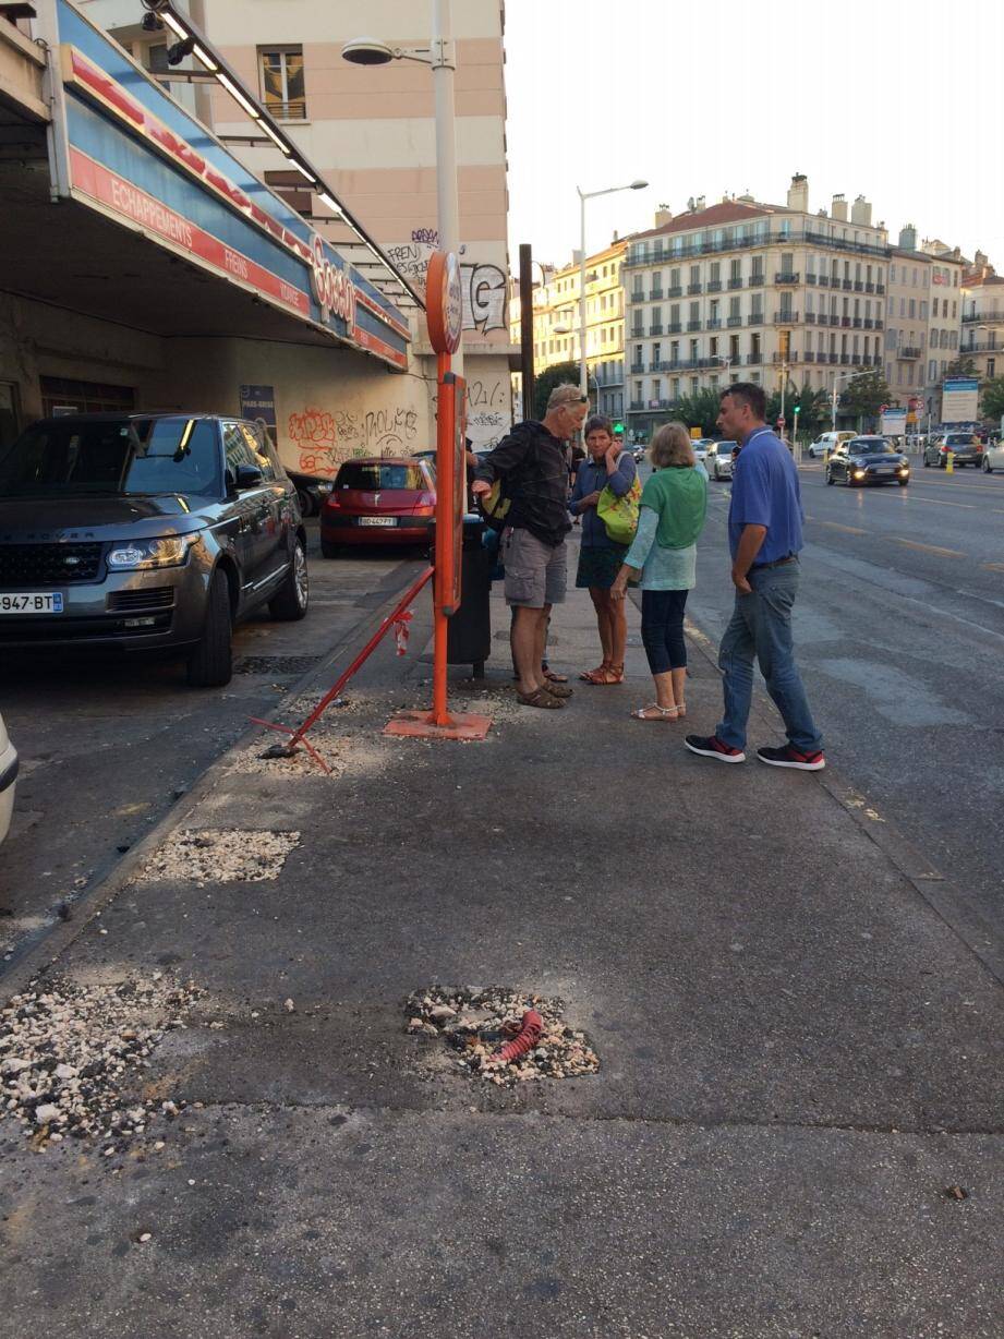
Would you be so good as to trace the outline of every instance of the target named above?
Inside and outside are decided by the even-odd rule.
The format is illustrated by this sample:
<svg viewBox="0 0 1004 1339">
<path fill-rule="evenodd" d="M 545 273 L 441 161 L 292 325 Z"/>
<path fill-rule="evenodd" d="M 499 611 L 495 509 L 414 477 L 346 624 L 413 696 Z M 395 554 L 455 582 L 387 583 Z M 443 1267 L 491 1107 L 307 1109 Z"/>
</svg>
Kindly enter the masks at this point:
<svg viewBox="0 0 1004 1339">
<path fill-rule="evenodd" d="M 182 493 L 220 497 L 206 419 L 36 423 L 0 453 L 0 497 Z"/>
</svg>

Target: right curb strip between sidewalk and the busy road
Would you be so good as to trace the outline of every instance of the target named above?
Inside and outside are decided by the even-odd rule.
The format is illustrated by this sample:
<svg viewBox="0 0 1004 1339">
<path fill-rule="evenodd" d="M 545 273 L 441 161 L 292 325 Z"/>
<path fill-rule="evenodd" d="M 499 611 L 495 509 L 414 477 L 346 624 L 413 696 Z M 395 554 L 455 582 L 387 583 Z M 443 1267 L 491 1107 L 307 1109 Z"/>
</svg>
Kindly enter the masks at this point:
<svg viewBox="0 0 1004 1339">
<path fill-rule="evenodd" d="M 720 675 L 715 644 L 689 616 L 687 637 L 715 674 Z M 752 715 L 768 732 L 776 731 L 776 714 L 759 687 L 754 691 Z M 822 786 L 869 841 L 882 852 L 921 901 L 948 925 L 991 976 L 1004 986 L 1004 944 L 983 912 L 969 904 L 963 889 L 942 874 L 913 842 L 892 828 L 888 819 L 870 817 L 877 815 L 877 810 L 830 762 L 825 771 L 813 773 L 811 781 Z"/>
</svg>

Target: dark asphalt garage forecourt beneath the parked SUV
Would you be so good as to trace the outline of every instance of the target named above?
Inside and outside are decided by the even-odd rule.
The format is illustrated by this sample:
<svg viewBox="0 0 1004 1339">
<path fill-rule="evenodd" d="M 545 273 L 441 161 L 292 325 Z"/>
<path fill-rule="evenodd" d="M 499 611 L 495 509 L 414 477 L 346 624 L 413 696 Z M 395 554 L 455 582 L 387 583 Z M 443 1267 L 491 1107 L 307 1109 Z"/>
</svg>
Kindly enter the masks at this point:
<svg viewBox="0 0 1004 1339">
<path fill-rule="evenodd" d="M 234 635 L 225 688 L 190 688 L 183 665 L 8 657 L 0 710 L 21 763 L 11 833 L 0 848 L 0 969 L 179 799 L 282 692 L 352 637 L 420 569 L 412 550 L 325 561 L 308 522 L 311 611 L 273 623 L 262 611 Z"/>
</svg>

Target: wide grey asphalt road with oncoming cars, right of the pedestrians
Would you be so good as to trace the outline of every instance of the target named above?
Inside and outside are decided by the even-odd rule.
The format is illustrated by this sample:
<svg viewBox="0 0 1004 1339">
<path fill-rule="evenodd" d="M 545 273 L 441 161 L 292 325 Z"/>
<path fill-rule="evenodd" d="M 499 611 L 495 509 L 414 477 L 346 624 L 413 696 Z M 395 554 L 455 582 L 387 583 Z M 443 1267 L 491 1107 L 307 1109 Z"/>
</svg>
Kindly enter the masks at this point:
<svg viewBox="0 0 1004 1339">
<path fill-rule="evenodd" d="M 1004 477 L 914 462 L 909 487 L 827 487 L 813 463 L 801 478 L 795 637 L 827 758 L 1004 927 Z M 730 485 L 711 494 L 688 615 L 718 644 Z"/>
</svg>

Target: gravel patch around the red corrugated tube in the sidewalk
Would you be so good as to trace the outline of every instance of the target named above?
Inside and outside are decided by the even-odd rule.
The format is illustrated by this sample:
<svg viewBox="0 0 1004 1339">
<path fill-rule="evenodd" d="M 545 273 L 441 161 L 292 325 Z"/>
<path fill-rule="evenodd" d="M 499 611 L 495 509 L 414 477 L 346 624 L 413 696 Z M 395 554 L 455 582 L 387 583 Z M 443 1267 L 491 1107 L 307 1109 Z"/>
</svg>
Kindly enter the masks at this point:
<svg viewBox="0 0 1004 1339">
<path fill-rule="evenodd" d="M 535 1010 L 543 1020 L 541 1039 L 526 1055 L 502 1065 L 494 1056 L 518 1032 L 527 1010 Z M 600 1058 L 585 1032 L 564 1022 L 564 1000 L 505 986 L 432 986 L 415 991 L 404 1004 L 407 1032 L 440 1038 L 455 1051 L 458 1069 L 497 1087 L 596 1074 Z"/>
</svg>

